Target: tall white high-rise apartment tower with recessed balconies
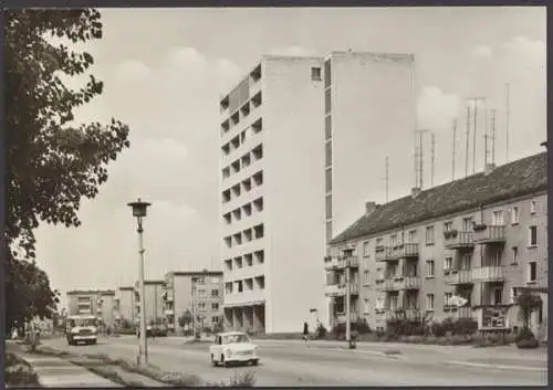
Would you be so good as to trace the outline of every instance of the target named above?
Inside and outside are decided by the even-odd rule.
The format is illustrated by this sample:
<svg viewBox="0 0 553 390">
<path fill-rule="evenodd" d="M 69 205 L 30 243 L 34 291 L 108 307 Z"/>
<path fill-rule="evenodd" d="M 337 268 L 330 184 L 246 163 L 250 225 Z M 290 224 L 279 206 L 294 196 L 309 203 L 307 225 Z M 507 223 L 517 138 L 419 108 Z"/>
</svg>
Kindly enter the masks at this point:
<svg viewBox="0 0 553 390">
<path fill-rule="evenodd" d="M 382 150 L 411 134 L 413 67 L 409 54 L 265 55 L 220 99 L 227 328 L 298 331 L 312 309 L 326 322 L 316 259 L 361 212 Z"/>
</svg>

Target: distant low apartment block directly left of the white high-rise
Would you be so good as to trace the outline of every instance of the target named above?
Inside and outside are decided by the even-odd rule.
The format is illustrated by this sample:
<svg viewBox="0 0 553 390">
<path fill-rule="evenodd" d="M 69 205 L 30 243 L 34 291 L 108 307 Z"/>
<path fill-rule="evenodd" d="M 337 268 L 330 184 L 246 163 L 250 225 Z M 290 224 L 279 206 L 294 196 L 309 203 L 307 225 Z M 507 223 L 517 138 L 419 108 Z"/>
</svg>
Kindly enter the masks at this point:
<svg viewBox="0 0 553 390">
<path fill-rule="evenodd" d="M 164 284 L 164 313 L 169 329 L 178 331 L 179 318 L 189 310 L 194 324 L 213 328 L 222 322 L 222 272 L 168 272 Z"/>
</svg>

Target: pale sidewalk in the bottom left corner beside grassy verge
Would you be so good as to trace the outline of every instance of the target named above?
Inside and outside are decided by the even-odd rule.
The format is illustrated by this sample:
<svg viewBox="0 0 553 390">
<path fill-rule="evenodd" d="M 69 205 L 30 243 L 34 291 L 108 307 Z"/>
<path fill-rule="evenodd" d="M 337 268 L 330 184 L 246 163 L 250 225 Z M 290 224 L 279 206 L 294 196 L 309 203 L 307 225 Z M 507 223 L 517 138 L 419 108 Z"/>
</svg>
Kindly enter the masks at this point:
<svg viewBox="0 0 553 390">
<path fill-rule="evenodd" d="M 10 345 L 10 342 L 7 342 L 6 347 L 7 352 L 14 354 L 31 365 L 39 377 L 40 384 L 43 387 L 121 388 L 119 384 L 61 358 L 25 354 L 22 348 L 18 348 L 17 345 Z"/>
</svg>

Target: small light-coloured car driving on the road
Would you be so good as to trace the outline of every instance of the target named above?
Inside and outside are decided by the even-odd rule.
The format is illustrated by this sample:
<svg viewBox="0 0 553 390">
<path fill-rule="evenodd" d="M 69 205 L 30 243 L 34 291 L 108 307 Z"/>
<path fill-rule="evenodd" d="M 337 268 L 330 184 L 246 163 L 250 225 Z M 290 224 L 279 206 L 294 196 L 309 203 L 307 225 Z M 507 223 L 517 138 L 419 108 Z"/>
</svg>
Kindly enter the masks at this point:
<svg viewBox="0 0 553 390">
<path fill-rule="evenodd" d="M 213 366 L 230 363 L 259 362 L 258 347 L 251 342 L 250 337 L 242 331 L 218 334 L 215 342 L 209 347 L 209 355 Z"/>
</svg>

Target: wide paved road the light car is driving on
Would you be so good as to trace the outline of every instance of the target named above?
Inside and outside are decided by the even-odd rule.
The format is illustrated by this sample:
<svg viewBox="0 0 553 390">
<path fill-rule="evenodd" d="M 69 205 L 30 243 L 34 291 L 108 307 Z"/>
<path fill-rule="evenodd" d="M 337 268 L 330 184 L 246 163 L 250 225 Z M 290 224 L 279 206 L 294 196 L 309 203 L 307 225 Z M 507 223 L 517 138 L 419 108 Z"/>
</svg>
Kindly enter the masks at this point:
<svg viewBox="0 0 553 390">
<path fill-rule="evenodd" d="M 70 347 L 63 339 L 45 345 L 69 351 L 134 359 L 135 337 Z M 149 340 L 149 362 L 165 371 L 197 373 L 205 381 L 228 381 L 236 371 L 254 370 L 258 386 L 546 386 L 546 352 L 512 347 L 471 348 L 364 344 L 347 350 L 335 342 L 259 340 L 258 367 L 211 367 L 207 345 L 180 338 Z M 386 355 L 386 350 L 400 355 Z M 499 354 L 498 354 L 499 352 Z M 522 354 L 522 355 L 521 355 Z M 524 355 L 525 354 L 525 355 Z M 501 356 L 494 360 L 492 356 Z M 497 367 L 490 363 L 499 365 Z"/>
</svg>

